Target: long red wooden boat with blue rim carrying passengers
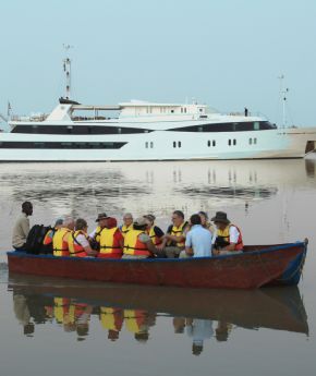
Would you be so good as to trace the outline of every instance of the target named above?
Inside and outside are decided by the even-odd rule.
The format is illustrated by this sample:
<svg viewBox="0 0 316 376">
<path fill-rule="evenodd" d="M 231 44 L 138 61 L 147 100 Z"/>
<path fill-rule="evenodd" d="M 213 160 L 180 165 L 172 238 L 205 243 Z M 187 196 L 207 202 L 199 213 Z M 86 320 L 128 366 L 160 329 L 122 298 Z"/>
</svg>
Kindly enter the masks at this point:
<svg viewBox="0 0 316 376">
<path fill-rule="evenodd" d="M 265 246 L 236 255 L 200 258 L 110 259 L 8 252 L 9 271 L 105 282 L 207 289 L 256 289 L 279 284 L 303 268 L 306 242 Z M 299 278 L 300 279 L 300 278 Z M 288 284 L 299 279 L 288 278 Z M 285 283 L 285 282 L 284 282 Z"/>
</svg>

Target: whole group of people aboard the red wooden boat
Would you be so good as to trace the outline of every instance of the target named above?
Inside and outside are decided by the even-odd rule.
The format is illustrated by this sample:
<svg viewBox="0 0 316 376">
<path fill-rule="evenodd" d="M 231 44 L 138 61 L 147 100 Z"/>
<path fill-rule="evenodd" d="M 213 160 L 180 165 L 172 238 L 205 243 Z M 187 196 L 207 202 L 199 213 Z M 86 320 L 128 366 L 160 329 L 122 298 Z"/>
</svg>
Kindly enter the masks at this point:
<svg viewBox="0 0 316 376">
<path fill-rule="evenodd" d="M 16 251 L 26 247 L 32 214 L 32 203 L 23 203 L 22 216 L 12 235 Z M 85 219 L 60 218 L 45 234 L 42 245 L 50 247 L 54 256 L 99 258 L 210 257 L 236 254 L 243 250 L 240 229 L 223 211 L 216 213 L 211 225 L 204 211 L 192 215 L 186 221 L 181 210 L 174 210 L 166 233 L 155 225 L 155 220 L 151 214 L 134 219 L 126 213 L 122 226 L 119 226 L 116 218 L 101 213 L 96 218 L 96 228 L 88 233 Z"/>
</svg>

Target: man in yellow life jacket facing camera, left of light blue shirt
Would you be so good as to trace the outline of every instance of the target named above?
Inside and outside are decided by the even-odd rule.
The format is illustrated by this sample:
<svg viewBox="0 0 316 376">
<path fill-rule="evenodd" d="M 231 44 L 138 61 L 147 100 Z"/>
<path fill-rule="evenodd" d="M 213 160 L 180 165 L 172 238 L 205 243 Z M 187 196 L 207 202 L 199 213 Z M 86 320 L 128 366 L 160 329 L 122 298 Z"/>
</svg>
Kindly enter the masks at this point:
<svg viewBox="0 0 316 376">
<path fill-rule="evenodd" d="M 185 235 L 190 230 L 181 210 L 174 210 L 171 220 L 172 225 L 169 226 L 167 234 L 163 235 L 162 243 L 157 245 L 157 248 L 163 252 L 168 258 L 179 257 L 181 251 L 184 250 Z"/>
</svg>

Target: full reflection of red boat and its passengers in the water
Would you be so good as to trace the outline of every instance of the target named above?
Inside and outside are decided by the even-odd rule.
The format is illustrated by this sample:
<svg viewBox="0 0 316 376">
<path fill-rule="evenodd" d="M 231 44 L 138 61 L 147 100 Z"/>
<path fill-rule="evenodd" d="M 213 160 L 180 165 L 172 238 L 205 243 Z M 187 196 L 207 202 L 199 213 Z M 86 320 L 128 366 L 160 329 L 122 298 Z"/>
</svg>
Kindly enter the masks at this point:
<svg viewBox="0 0 316 376">
<path fill-rule="evenodd" d="M 81 341 L 90 335 L 93 325 L 106 330 L 110 341 L 119 340 L 125 331 L 145 343 L 154 339 L 151 327 L 170 325 L 175 335 L 191 338 L 195 355 L 211 338 L 229 340 L 236 327 L 308 336 L 307 316 L 296 287 L 193 290 L 10 274 L 8 289 L 13 293 L 14 313 L 26 336 L 34 336 L 38 324 L 50 324 Z M 158 323 L 160 319 L 163 322 Z"/>
</svg>

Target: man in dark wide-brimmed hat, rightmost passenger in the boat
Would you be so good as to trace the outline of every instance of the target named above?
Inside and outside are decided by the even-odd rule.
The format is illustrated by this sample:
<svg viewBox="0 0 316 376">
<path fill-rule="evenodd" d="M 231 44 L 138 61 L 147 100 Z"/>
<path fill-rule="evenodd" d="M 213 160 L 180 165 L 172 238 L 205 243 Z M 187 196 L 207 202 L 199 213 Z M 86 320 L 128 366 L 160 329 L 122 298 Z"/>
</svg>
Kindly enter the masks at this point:
<svg viewBox="0 0 316 376">
<path fill-rule="evenodd" d="M 227 214 L 217 211 L 211 220 L 217 228 L 212 253 L 215 255 L 241 253 L 244 247 L 242 233 L 235 225 L 230 222 Z"/>
</svg>

